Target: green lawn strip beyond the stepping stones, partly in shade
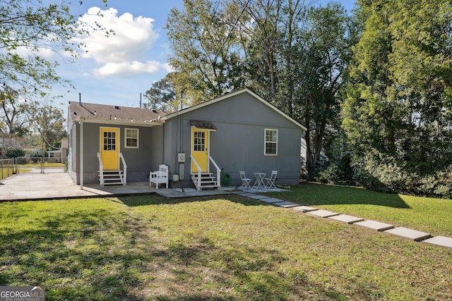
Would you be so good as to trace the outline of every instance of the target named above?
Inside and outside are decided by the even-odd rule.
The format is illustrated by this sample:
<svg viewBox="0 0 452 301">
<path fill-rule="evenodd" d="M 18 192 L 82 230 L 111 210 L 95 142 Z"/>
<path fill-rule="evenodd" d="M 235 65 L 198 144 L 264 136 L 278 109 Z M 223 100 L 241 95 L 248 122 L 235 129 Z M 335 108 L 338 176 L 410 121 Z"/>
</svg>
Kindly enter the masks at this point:
<svg viewBox="0 0 452 301">
<path fill-rule="evenodd" d="M 289 192 L 268 193 L 340 214 L 452 237 L 452 200 L 374 192 L 362 188 L 305 183 Z"/>
</svg>

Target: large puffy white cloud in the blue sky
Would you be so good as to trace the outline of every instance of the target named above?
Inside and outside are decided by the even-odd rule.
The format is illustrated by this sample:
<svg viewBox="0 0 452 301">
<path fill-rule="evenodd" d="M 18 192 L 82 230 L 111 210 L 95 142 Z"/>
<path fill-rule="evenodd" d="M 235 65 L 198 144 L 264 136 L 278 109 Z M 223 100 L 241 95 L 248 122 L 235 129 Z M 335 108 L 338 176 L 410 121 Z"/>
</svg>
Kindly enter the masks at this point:
<svg viewBox="0 0 452 301">
<path fill-rule="evenodd" d="M 100 16 L 102 15 L 102 16 Z M 130 13 L 118 16 L 114 8 L 102 11 L 92 7 L 79 21 L 93 28 L 99 24 L 107 30 L 113 30 L 114 35 L 105 36 L 105 30 L 90 30 L 90 35 L 77 37 L 76 42 L 83 43 L 85 59 L 93 59 L 101 66 L 94 70 L 98 76 L 126 75 L 140 73 L 155 73 L 160 68 L 168 70 L 165 63 L 150 61 L 148 51 L 159 38 L 153 30 L 152 18 L 142 16 L 133 18 Z"/>
</svg>

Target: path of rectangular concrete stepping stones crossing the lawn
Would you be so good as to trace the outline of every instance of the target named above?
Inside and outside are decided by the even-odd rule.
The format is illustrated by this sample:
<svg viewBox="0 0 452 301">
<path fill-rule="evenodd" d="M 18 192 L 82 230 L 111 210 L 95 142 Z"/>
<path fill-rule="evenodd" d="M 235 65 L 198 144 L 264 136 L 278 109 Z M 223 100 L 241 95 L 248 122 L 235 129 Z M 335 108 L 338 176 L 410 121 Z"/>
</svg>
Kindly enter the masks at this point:
<svg viewBox="0 0 452 301">
<path fill-rule="evenodd" d="M 274 197 L 265 197 L 262 195 L 255 195 L 254 193 L 248 192 L 233 192 L 237 195 L 242 195 L 244 197 L 250 197 L 252 199 L 257 199 L 261 202 L 266 202 L 269 204 L 273 204 L 278 207 L 285 207 L 296 211 L 301 211 L 304 214 L 311 216 L 318 216 L 321 218 L 333 219 L 335 221 L 339 221 L 341 223 L 347 223 L 351 225 L 356 225 L 359 227 L 368 228 L 375 231 L 380 231 L 383 233 L 388 233 L 392 235 L 396 235 L 402 238 L 408 238 L 410 240 L 422 241 L 429 245 L 435 245 L 438 247 L 446 247 L 448 249 L 452 249 L 452 238 L 447 238 L 444 236 L 436 236 L 432 238 L 430 233 L 412 230 L 405 227 L 397 227 L 394 228 L 393 225 L 389 223 L 381 223 L 379 221 L 365 220 L 356 216 L 350 216 L 347 214 L 338 214 L 333 211 L 317 209 L 309 206 L 302 206 L 299 204 L 295 204 L 292 202 L 284 201 L 283 199 L 276 199 Z"/>
</svg>

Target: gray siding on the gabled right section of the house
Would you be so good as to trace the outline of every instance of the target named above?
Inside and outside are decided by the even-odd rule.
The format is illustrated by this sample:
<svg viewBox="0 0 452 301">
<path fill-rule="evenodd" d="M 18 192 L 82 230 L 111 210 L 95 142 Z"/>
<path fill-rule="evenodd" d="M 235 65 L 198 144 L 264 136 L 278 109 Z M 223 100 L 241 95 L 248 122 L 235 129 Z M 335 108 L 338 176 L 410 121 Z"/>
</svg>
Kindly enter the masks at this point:
<svg viewBox="0 0 452 301">
<path fill-rule="evenodd" d="M 171 118 L 165 123 L 165 137 L 177 137 L 165 148 L 168 150 L 165 159 L 176 162 L 179 149 L 186 153 L 187 158 L 185 180 L 174 185 L 193 185 L 189 175 L 191 120 L 208 121 L 217 128 L 210 133 L 210 156 L 220 168 L 230 173 L 232 185 L 241 185 L 240 170 L 245 171 L 249 177 L 254 177 L 253 172 L 265 172 L 269 176 L 272 170 L 278 170 L 277 183 L 299 183 L 302 129 L 250 94 L 243 93 Z M 182 147 L 179 142 L 181 121 Z M 278 130 L 278 156 L 264 155 L 266 128 Z M 179 168 L 176 166 L 170 168 L 170 171 L 179 173 Z M 214 171 L 213 166 L 210 166 L 210 171 Z"/>
</svg>

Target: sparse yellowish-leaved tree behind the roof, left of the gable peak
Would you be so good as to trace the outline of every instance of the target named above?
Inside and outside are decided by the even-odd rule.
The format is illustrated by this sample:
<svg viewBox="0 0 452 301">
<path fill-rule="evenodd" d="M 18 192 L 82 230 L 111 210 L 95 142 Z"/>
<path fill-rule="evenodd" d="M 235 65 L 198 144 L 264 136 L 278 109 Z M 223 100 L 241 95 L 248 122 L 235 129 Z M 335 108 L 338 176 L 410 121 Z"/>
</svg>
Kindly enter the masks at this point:
<svg viewBox="0 0 452 301">
<path fill-rule="evenodd" d="M 169 63 L 175 90 L 196 104 L 243 86 L 241 51 L 237 49 L 237 16 L 225 13 L 220 1 L 184 0 L 167 18 L 167 37 L 174 54 Z"/>
</svg>

